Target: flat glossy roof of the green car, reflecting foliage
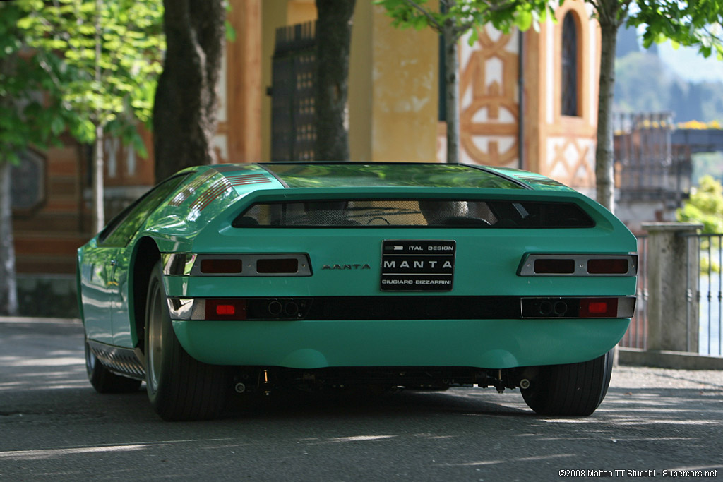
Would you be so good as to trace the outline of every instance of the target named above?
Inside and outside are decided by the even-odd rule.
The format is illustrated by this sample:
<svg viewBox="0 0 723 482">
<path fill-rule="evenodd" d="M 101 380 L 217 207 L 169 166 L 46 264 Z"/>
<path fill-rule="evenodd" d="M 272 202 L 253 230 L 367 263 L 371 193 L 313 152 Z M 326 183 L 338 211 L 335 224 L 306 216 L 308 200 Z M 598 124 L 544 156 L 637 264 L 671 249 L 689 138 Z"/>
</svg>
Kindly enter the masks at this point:
<svg viewBox="0 0 723 482">
<path fill-rule="evenodd" d="M 259 163 L 288 188 L 458 187 L 529 189 L 477 165 L 440 163 Z"/>
</svg>

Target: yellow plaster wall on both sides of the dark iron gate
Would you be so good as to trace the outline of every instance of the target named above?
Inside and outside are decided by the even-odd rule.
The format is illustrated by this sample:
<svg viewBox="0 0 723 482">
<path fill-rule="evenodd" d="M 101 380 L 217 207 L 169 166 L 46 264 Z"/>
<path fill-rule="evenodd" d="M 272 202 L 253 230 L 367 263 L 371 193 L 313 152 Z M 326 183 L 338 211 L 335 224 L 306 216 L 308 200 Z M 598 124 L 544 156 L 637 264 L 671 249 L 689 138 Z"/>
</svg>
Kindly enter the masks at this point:
<svg viewBox="0 0 723 482">
<path fill-rule="evenodd" d="M 271 64 L 278 27 L 316 17 L 312 0 L 264 0 L 261 12 L 261 155 L 270 159 Z M 351 160 L 434 161 L 438 38 L 397 30 L 382 7 L 357 1 L 348 79 Z"/>
</svg>

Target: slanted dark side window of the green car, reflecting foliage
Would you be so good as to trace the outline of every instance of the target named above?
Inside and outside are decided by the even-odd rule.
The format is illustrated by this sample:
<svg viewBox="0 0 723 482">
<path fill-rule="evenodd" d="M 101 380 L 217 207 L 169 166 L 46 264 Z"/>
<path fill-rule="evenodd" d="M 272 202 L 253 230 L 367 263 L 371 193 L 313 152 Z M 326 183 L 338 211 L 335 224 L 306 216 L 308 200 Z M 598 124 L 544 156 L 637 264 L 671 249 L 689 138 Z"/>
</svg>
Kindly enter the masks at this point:
<svg viewBox="0 0 723 482">
<path fill-rule="evenodd" d="M 138 231 L 148 215 L 171 194 L 186 176 L 163 181 L 123 210 L 100 232 L 100 244 L 125 246 Z"/>
</svg>

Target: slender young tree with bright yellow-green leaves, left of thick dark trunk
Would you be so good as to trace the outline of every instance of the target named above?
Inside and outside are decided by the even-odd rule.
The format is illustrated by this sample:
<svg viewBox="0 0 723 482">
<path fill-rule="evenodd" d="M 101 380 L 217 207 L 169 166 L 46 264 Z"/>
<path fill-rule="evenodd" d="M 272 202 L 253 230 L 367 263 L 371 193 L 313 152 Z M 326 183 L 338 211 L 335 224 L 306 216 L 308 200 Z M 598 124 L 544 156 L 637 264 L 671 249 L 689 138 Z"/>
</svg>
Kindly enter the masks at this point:
<svg viewBox="0 0 723 482">
<path fill-rule="evenodd" d="M 58 56 L 64 79 L 48 76 L 61 91 L 70 132 L 95 143 L 95 230 L 104 224 L 103 136 L 132 142 L 145 154 L 138 121 L 153 108 L 155 81 L 165 49 L 161 0 L 17 0 L 26 15 L 17 25 L 43 59 Z"/>
</svg>

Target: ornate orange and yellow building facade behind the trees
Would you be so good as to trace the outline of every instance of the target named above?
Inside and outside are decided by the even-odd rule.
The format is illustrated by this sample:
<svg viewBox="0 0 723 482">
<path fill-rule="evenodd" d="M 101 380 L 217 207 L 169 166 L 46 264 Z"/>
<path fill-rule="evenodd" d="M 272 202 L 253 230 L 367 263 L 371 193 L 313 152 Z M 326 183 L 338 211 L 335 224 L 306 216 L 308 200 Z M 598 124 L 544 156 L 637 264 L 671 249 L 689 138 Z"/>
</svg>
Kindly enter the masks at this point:
<svg viewBox="0 0 723 482">
<path fill-rule="evenodd" d="M 216 161 L 272 160 L 273 59 L 279 29 L 313 22 L 314 0 L 231 0 L 236 40 L 223 59 Z M 461 160 L 536 171 L 592 193 L 599 65 L 599 27 L 586 4 L 567 1 L 539 32 L 479 31 L 460 43 Z M 444 162 L 440 119 L 440 48 L 432 30 L 395 30 L 382 7 L 357 1 L 348 80 L 351 159 Z M 311 77 L 294 77 L 308 88 Z M 304 104 L 304 112 L 313 106 Z M 300 132 L 295 133 L 304 137 Z M 155 184 L 150 134 L 147 158 L 107 139 L 106 211 Z M 306 133 L 307 137 L 312 134 Z M 308 139 L 307 139 L 308 140 Z M 90 149 L 67 139 L 31 152 L 14 174 L 20 275 L 72 278 L 75 250 L 93 236 Z M 34 186 L 34 187 L 33 187 Z M 22 199 L 21 199 L 22 198 Z"/>
</svg>

